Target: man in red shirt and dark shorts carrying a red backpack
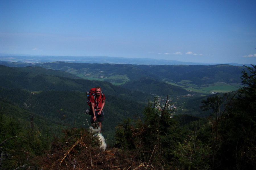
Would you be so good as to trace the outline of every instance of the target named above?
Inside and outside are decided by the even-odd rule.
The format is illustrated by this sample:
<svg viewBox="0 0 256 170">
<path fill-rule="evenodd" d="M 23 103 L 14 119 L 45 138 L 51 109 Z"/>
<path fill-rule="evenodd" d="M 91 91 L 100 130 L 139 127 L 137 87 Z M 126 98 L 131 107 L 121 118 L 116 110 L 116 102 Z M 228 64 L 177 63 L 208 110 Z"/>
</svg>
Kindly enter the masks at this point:
<svg viewBox="0 0 256 170">
<path fill-rule="evenodd" d="M 102 123 L 104 120 L 104 113 L 103 113 L 103 107 L 105 105 L 105 95 L 102 93 L 100 87 L 96 87 L 95 90 L 95 100 L 94 97 L 91 97 L 90 102 L 92 104 L 92 116 L 91 116 L 91 123 L 94 123 L 94 121 L 98 120 L 98 124 L 100 126 L 100 132 L 102 129 Z"/>
</svg>

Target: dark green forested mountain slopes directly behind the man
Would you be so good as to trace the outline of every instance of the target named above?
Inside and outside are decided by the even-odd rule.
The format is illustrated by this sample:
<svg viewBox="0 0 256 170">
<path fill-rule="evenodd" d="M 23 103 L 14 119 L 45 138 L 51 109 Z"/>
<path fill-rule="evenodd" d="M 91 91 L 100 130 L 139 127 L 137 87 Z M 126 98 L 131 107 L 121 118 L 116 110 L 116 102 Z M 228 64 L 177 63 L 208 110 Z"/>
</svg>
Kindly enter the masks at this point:
<svg viewBox="0 0 256 170">
<path fill-rule="evenodd" d="M 86 91 L 101 86 L 106 95 L 104 112 L 105 121 L 108 122 L 104 124 L 104 132 L 110 141 L 113 141 L 118 122 L 141 115 L 148 100 L 153 100 L 153 96 L 146 93 L 127 90 L 108 82 L 77 79 L 63 71 L 3 65 L 0 65 L 0 69 L 2 99 L 28 110 L 32 115 L 46 117 L 52 123 L 65 127 L 88 127 L 86 119 L 89 120 L 90 116 L 84 114 L 89 108 Z M 76 79 L 70 78 L 72 76 Z M 34 119 L 36 121 L 36 117 Z M 60 131 L 57 128 L 54 133 Z"/>
</svg>

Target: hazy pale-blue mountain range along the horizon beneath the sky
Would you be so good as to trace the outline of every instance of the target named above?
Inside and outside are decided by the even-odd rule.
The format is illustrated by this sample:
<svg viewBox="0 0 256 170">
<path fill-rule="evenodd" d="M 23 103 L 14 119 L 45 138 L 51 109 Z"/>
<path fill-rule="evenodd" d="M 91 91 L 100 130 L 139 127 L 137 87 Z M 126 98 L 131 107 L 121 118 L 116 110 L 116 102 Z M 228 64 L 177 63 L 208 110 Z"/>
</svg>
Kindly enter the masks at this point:
<svg viewBox="0 0 256 170">
<path fill-rule="evenodd" d="M 53 61 L 65 61 L 72 63 L 109 63 L 109 64 L 143 64 L 143 65 L 214 65 L 214 64 L 229 64 L 236 66 L 250 66 L 249 64 L 238 63 L 193 63 L 182 62 L 176 60 L 152 59 L 152 58 L 122 58 L 122 57 L 107 57 L 107 56 L 29 56 L 29 55 L 11 55 L 1 54 L 0 61 L 15 61 L 25 63 L 45 63 Z"/>
</svg>

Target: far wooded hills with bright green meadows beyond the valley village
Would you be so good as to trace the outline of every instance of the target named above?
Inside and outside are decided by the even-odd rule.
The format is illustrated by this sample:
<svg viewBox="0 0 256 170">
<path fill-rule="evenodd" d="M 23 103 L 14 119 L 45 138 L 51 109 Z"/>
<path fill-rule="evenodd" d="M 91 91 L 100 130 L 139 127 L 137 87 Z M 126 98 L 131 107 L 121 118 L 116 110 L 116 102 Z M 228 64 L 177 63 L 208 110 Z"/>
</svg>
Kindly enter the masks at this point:
<svg viewBox="0 0 256 170">
<path fill-rule="evenodd" d="M 131 65 L 131 64 L 88 64 L 88 63 L 3 63 L 13 67 L 28 65 L 47 69 L 66 71 L 80 78 L 89 80 L 104 80 L 125 88 L 137 89 L 147 93 L 158 92 L 167 95 L 164 88 L 186 89 L 190 92 L 210 94 L 211 92 L 231 92 L 241 86 L 241 71 L 244 67 L 233 65 Z M 148 84 L 145 80 L 149 78 Z M 140 81 L 140 84 L 135 83 Z M 134 86 L 133 86 L 134 84 Z M 154 90 L 157 84 L 158 90 Z M 140 89 L 138 86 L 144 86 Z M 177 88 L 176 90 L 179 90 Z M 149 92 L 150 91 L 150 92 Z M 183 93 L 180 90 L 180 93 Z M 176 95 L 170 92 L 168 95 Z"/>
</svg>

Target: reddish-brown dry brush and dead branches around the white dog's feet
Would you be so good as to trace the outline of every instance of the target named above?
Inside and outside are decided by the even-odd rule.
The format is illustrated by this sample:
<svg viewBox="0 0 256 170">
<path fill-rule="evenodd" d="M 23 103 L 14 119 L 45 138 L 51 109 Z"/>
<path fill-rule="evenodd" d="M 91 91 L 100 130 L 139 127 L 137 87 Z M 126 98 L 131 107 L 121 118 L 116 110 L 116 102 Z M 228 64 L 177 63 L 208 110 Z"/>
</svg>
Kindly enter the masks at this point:
<svg viewBox="0 0 256 170">
<path fill-rule="evenodd" d="M 79 132 L 79 133 L 76 133 Z M 73 134 L 74 133 L 74 134 Z M 76 135 L 76 134 L 77 135 Z M 55 140 L 51 149 L 40 160 L 42 169 L 49 170 L 86 170 L 86 169 L 117 169 L 139 170 L 154 169 L 135 159 L 135 152 L 124 153 L 118 148 L 107 148 L 100 151 L 98 141 L 92 134 L 75 129 L 66 131 L 62 140 Z M 61 141 L 61 142 L 60 142 Z"/>
</svg>

